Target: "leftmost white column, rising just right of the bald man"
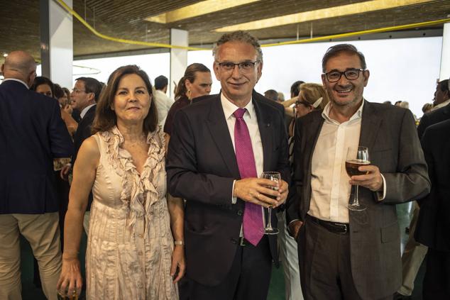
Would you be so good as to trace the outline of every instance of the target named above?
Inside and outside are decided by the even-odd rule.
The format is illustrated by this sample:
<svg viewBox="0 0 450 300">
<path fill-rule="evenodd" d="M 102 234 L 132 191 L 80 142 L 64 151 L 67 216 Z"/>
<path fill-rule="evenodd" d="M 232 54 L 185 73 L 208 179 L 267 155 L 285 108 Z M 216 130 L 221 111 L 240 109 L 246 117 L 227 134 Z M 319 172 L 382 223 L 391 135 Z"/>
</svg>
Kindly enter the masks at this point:
<svg viewBox="0 0 450 300">
<path fill-rule="evenodd" d="M 65 0 L 72 8 L 72 0 Z M 42 74 L 61 87 L 72 88 L 73 19 L 56 1 L 40 0 Z"/>
</svg>

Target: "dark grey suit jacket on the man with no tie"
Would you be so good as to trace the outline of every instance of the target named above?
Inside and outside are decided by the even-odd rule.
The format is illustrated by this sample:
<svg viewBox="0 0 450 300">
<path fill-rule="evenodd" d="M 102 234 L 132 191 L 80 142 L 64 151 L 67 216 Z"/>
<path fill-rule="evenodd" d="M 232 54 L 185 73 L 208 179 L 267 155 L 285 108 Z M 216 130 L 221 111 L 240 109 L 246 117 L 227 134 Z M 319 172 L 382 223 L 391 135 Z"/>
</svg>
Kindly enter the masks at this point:
<svg viewBox="0 0 450 300">
<path fill-rule="evenodd" d="M 287 222 L 305 220 L 311 198 L 311 161 L 324 123 L 321 111 L 297 119 L 294 177 L 287 202 Z M 368 147 L 373 165 L 386 180 L 386 195 L 359 188 L 365 211 L 349 211 L 351 270 L 363 299 L 392 295 L 400 287 L 400 230 L 394 205 L 429 192 L 427 165 L 417 138 L 415 121 L 407 109 L 365 101 L 359 145 Z M 302 234 L 302 229 L 300 229 Z"/>
</svg>

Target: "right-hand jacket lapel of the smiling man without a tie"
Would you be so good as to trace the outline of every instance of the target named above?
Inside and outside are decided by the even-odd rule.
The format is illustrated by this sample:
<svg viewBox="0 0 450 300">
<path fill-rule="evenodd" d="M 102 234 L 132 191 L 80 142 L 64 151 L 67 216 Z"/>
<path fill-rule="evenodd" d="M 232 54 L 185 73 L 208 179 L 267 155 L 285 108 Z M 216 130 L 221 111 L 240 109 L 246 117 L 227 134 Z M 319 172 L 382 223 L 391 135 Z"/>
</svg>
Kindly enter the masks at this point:
<svg viewBox="0 0 450 300">
<path fill-rule="evenodd" d="M 359 135 L 359 145 L 369 149 L 369 153 L 375 145 L 375 139 L 380 128 L 381 118 L 378 111 L 372 104 L 364 100 L 363 119 L 361 120 L 361 133 Z"/>
</svg>

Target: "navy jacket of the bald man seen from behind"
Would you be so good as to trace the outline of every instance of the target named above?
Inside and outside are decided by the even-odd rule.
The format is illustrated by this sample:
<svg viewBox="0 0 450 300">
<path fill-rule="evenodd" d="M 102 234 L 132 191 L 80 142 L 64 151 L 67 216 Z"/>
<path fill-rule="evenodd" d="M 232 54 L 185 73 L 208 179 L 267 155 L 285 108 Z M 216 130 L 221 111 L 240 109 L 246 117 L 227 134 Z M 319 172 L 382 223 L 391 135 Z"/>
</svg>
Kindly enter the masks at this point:
<svg viewBox="0 0 450 300">
<path fill-rule="evenodd" d="M 58 211 L 53 158 L 72 153 L 57 100 L 21 82 L 0 85 L 0 213 Z"/>
</svg>

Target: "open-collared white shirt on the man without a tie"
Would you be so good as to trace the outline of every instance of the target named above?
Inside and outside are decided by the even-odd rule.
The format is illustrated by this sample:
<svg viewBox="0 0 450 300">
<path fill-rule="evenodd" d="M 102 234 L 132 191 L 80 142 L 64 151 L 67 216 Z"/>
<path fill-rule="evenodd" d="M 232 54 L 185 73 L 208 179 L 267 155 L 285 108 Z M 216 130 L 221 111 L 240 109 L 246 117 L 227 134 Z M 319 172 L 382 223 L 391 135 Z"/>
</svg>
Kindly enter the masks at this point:
<svg viewBox="0 0 450 300">
<path fill-rule="evenodd" d="M 329 117 L 331 103 L 322 112 L 325 119 L 312 155 L 311 201 L 308 214 L 321 220 L 349 223 L 351 185 L 345 162 L 349 147 L 358 147 L 364 101 L 349 121 L 339 123 Z M 370 149 L 369 149 L 370 153 Z M 370 157 L 369 157 L 370 158 Z M 385 179 L 383 195 L 385 197 Z M 381 194 L 381 193 L 380 193 Z"/>
</svg>

